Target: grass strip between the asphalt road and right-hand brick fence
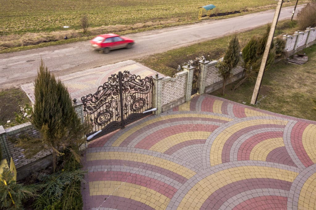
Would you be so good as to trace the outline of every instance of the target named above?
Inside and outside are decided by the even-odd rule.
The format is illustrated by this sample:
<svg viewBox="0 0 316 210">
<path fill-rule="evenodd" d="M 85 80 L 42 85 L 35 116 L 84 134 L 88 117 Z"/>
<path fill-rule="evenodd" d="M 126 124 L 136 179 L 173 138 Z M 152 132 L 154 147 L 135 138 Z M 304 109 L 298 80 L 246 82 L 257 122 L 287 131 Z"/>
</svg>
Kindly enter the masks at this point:
<svg viewBox="0 0 316 210">
<path fill-rule="evenodd" d="M 238 33 L 238 37 L 243 48 L 252 36 L 258 36 L 266 31 L 267 26 L 255 28 L 246 32 Z M 296 21 L 280 21 L 277 25 L 275 37 L 280 34 L 292 34 L 297 30 Z M 169 50 L 165 53 L 159 53 L 136 59 L 137 62 L 148 66 L 149 68 L 160 72 L 161 74 L 173 77 L 178 71 L 178 65 L 182 65 L 188 60 L 204 55 L 206 60 L 217 60 L 225 52 L 232 35 L 212 39 L 205 42 L 196 43 L 188 47 Z"/>
</svg>

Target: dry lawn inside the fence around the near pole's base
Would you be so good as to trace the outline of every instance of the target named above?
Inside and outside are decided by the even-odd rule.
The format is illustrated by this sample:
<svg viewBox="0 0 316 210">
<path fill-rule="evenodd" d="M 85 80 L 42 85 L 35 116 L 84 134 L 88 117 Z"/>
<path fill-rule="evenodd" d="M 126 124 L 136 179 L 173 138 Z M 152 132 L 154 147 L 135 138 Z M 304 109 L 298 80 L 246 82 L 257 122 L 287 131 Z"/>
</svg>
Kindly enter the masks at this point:
<svg viewBox="0 0 316 210">
<path fill-rule="evenodd" d="M 217 90 L 211 95 L 222 97 L 259 109 L 316 121 L 316 44 L 302 50 L 308 62 L 295 65 L 279 61 L 264 72 L 257 105 L 251 105 L 256 81 L 246 82 L 232 90 L 238 81 L 225 88 L 225 95 Z"/>
</svg>

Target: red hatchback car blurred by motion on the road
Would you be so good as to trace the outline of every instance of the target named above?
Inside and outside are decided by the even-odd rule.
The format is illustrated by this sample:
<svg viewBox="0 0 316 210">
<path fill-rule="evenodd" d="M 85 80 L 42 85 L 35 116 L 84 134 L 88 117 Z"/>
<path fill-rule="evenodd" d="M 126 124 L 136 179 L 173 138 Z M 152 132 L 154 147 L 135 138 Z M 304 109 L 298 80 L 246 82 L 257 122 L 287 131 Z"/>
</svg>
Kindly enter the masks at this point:
<svg viewBox="0 0 316 210">
<path fill-rule="evenodd" d="M 112 49 L 127 48 L 134 45 L 134 40 L 121 37 L 117 34 L 102 34 L 90 40 L 95 50 L 101 50 L 103 53 L 109 53 Z"/>
</svg>

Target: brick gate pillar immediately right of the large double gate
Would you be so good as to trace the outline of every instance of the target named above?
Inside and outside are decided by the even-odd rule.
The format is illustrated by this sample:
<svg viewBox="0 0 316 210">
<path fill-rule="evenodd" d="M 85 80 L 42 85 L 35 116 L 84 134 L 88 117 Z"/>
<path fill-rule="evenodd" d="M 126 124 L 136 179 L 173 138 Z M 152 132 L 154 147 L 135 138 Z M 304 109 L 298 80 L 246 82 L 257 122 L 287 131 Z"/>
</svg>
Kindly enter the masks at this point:
<svg viewBox="0 0 316 210">
<path fill-rule="evenodd" d="M 159 115 L 162 112 L 162 79 L 164 77 L 156 73 L 153 77 L 154 88 L 153 88 L 153 108 L 157 108 L 155 115 Z"/>
</svg>

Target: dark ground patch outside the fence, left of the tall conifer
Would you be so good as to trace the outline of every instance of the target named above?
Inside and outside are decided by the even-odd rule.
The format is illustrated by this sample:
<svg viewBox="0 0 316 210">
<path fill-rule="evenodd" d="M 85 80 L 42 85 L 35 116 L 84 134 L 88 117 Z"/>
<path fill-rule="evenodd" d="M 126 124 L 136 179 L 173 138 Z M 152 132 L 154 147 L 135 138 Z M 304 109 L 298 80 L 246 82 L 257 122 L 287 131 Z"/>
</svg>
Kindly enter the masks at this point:
<svg viewBox="0 0 316 210">
<path fill-rule="evenodd" d="M 0 125 L 12 127 L 20 123 L 15 121 L 15 112 L 21 113 L 21 107 L 31 105 L 31 101 L 21 88 L 11 88 L 0 91 Z M 10 123 L 7 121 L 10 120 Z"/>
</svg>

